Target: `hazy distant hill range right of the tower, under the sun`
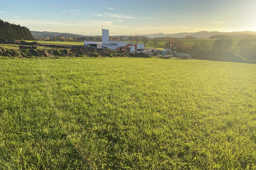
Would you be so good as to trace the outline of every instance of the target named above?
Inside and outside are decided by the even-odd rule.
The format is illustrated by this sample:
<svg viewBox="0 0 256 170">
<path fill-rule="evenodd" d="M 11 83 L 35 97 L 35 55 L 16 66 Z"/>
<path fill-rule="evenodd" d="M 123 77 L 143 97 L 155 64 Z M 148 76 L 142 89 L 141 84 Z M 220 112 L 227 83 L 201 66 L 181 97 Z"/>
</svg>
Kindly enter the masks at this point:
<svg viewBox="0 0 256 170">
<path fill-rule="evenodd" d="M 158 33 L 158 34 L 145 34 L 144 36 L 149 37 L 149 38 L 157 38 L 157 37 L 173 37 L 173 38 L 182 38 L 186 36 L 193 36 L 193 37 L 198 37 L 198 38 L 210 38 L 213 35 L 229 35 L 236 37 L 235 35 L 239 35 L 239 38 L 246 38 L 248 36 L 256 36 L 256 32 L 253 31 L 242 31 L 242 32 L 218 32 L 218 31 L 199 31 L 199 32 L 194 32 L 194 33 L 176 33 L 176 34 L 164 34 L 164 33 Z"/>
</svg>

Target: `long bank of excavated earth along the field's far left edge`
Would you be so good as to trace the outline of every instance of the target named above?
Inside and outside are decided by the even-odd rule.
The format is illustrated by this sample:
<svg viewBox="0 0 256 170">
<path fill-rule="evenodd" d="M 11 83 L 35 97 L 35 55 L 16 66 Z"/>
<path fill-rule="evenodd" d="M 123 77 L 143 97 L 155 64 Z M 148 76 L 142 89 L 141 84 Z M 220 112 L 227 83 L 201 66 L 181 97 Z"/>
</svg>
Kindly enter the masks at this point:
<svg viewBox="0 0 256 170">
<path fill-rule="evenodd" d="M 19 40 L 5 40 L 0 39 L 0 43 L 3 44 L 17 44 L 30 46 L 28 49 L 8 49 L 0 47 L 0 55 L 7 57 L 143 57 L 151 58 L 151 55 L 145 53 L 118 53 L 115 50 L 110 49 L 91 49 L 81 47 L 65 47 L 57 45 L 41 45 L 37 42 L 25 42 Z M 51 47 L 44 50 L 38 48 L 38 46 Z"/>
</svg>

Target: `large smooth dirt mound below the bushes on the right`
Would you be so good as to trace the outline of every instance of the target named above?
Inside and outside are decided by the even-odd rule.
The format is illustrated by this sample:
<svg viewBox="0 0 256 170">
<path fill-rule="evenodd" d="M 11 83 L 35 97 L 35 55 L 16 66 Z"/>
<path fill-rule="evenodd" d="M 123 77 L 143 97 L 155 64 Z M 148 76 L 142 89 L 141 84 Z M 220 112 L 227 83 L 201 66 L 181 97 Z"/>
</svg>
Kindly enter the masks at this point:
<svg viewBox="0 0 256 170">
<path fill-rule="evenodd" d="M 245 58 L 233 52 L 197 50 L 197 51 L 192 51 L 191 55 L 193 56 L 193 59 L 199 59 L 199 60 L 248 63 L 248 61 Z"/>
</svg>

